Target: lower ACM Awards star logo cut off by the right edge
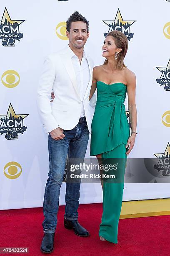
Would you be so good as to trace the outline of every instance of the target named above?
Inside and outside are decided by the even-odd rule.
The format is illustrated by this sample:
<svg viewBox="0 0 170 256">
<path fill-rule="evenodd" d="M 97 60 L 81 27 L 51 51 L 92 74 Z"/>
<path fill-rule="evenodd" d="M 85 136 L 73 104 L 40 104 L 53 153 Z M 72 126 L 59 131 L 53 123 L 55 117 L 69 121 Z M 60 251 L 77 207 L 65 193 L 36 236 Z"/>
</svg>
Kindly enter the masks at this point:
<svg viewBox="0 0 170 256">
<path fill-rule="evenodd" d="M 158 170 L 158 172 L 162 172 L 163 176 L 170 175 L 170 143 L 164 151 L 164 153 L 154 154 L 154 156 L 158 157 L 158 164 L 154 164 L 154 168 Z"/>
</svg>

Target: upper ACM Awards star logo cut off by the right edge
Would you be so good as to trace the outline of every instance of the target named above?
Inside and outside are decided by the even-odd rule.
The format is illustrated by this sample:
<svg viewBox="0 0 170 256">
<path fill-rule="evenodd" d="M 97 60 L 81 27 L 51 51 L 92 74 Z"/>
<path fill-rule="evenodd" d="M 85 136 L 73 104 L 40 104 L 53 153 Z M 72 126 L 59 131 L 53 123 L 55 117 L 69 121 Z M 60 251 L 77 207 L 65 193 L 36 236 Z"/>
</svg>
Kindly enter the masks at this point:
<svg viewBox="0 0 170 256">
<path fill-rule="evenodd" d="M 164 85 L 165 91 L 170 91 L 170 59 L 167 67 L 156 67 L 160 72 L 160 78 L 156 79 L 156 82 L 160 84 L 160 86 Z"/>
</svg>

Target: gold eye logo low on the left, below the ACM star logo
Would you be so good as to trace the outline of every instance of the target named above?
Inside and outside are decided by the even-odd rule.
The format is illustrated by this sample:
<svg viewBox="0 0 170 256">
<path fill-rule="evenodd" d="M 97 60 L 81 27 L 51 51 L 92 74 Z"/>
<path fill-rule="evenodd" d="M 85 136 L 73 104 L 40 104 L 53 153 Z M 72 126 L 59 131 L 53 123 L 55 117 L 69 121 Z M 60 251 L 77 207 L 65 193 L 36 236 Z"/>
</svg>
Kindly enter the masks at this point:
<svg viewBox="0 0 170 256">
<path fill-rule="evenodd" d="M 21 172 L 22 168 L 17 162 L 9 162 L 4 167 L 4 174 L 8 179 L 17 179 Z"/>
</svg>

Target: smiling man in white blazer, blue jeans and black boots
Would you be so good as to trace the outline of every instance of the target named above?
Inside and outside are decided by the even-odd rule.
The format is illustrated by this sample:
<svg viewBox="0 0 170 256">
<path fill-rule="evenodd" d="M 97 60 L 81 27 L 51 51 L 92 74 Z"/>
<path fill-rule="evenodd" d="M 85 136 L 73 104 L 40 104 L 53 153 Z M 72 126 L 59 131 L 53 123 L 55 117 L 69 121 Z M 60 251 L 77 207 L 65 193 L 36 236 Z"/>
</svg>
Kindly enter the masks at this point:
<svg viewBox="0 0 170 256">
<path fill-rule="evenodd" d="M 58 200 L 67 154 L 70 159 L 84 159 L 91 133 L 89 94 L 93 64 L 83 50 L 89 37 L 88 26 L 86 18 L 78 12 L 68 18 L 66 36 L 69 45 L 46 58 L 37 90 L 40 115 L 45 132 L 49 133 L 50 171 L 43 204 L 43 253 L 53 251 Z M 49 97 L 52 90 L 55 99 L 51 105 Z M 95 102 L 96 95 L 93 95 L 90 100 L 93 108 Z M 78 236 L 89 236 L 89 232 L 77 220 L 79 192 L 80 182 L 67 182 L 64 226 L 73 229 Z"/>
</svg>

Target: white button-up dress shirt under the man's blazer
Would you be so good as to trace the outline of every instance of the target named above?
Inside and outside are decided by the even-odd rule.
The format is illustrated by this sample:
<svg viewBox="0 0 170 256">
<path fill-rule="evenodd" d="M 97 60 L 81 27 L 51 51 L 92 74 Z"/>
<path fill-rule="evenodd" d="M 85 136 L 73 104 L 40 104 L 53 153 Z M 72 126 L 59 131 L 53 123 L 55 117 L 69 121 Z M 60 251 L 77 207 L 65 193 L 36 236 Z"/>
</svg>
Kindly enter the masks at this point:
<svg viewBox="0 0 170 256">
<path fill-rule="evenodd" d="M 90 70 L 89 70 L 89 65 L 87 61 L 87 55 L 85 54 L 85 51 L 83 51 L 82 61 L 80 64 L 78 57 L 75 55 L 75 53 L 72 51 L 69 45 L 68 45 L 68 48 L 70 49 L 70 56 L 71 56 L 72 65 L 75 71 L 77 87 L 79 88 L 79 92 L 80 92 L 80 99 L 82 102 L 80 117 L 82 117 L 82 116 L 85 116 L 83 98 L 85 96 L 85 91 L 90 81 Z"/>
</svg>

